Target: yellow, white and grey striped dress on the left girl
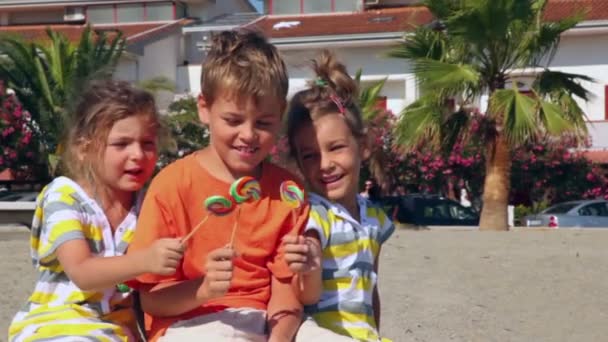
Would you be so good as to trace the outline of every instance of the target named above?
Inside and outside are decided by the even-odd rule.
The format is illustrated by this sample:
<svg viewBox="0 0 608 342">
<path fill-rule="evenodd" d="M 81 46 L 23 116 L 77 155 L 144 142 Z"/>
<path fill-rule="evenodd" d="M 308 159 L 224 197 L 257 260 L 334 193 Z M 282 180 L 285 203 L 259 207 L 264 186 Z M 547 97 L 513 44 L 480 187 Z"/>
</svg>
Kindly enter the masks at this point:
<svg viewBox="0 0 608 342">
<path fill-rule="evenodd" d="M 56 251 L 70 240 L 86 240 L 93 255 L 126 253 L 136 223 L 132 208 L 115 233 L 101 209 L 66 177 L 40 193 L 32 223 L 31 256 L 38 282 L 9 327 L 9 341 L 135 341 L 129 293 L 116 287 L 82 291 L 65 274 Z"/>
</svg>

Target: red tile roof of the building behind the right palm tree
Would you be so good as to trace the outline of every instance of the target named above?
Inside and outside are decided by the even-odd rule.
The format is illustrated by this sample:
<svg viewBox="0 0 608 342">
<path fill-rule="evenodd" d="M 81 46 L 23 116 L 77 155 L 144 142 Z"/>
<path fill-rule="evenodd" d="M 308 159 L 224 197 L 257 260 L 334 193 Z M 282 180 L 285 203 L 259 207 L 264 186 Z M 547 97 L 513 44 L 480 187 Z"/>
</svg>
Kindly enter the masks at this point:
<svg viewBox="0 0 608 342">
<path fill-rule="evenodd" d="M 545 10 L 545 18 L 558 20 L 579 11 L 585 13 L 585 20 L 608 20 L 608 1 L 550 0 Z M 262 30 L 272 38 L 295 38 L 403 32 L 415 26 L 428 24 L 432 20 L 433 16 L 426 7 L 403 6 L 349 13 L 269 15 L 249 26 Z M 278 28 L 275 26 L 277 24 L 291 26 Z"/>
</svg>

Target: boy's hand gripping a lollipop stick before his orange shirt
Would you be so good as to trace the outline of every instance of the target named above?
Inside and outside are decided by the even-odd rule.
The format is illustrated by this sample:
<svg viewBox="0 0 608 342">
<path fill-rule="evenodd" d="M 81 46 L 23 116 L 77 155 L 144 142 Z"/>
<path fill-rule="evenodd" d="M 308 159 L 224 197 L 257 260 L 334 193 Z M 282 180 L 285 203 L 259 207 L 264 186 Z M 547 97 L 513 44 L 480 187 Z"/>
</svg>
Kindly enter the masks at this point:
<svg viewBox="0 0 608 342">
<path fill-rule="evenodd" d="M 228 246 L 218 248 L 207 255 L 205 279 L 200 291 L 206 299 L 221 297 L 228 292 L 232 281 L 232 260 L 236 251 Z"/>
</svg>

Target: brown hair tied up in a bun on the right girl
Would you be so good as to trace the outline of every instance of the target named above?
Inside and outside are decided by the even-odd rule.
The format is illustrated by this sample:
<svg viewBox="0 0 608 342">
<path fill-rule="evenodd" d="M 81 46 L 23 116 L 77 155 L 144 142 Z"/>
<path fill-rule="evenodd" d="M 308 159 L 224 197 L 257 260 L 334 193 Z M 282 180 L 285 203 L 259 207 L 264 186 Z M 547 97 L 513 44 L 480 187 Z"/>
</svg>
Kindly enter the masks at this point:
<svg viewBox="0 0 608 342">
<path fill-rule="evenodd" d="M 287 137 L 290 153 L 294 157 L 297 155 L 295 136 L 298 129 L 327 114 L 344 115 L 356 138 L 364 138 L 366 134 L 361 109 L 357 104 L 359 87 L 348 74 L 346 66 L 327 50 L 323 50 L 311 62 L 316 79 L 309 82 L 308 89 L 294 95 L 287 111 Z"/>
</svg>

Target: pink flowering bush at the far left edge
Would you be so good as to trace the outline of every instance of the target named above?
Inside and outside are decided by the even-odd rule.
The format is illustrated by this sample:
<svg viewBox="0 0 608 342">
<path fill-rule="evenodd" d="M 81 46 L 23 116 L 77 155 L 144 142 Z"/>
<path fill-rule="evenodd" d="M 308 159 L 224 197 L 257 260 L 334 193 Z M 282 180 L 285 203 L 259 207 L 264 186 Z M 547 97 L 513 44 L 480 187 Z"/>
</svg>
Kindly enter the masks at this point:
<svg viewBox="0 0 608 342">
<path fill-rule="evenodd" d="M 0 81 L 0 172 L 13 171 L 17 178 L 28 178 L 35 169 L 36 146 L 30 114 Z"/>
</svg>

